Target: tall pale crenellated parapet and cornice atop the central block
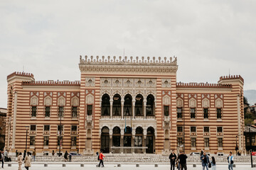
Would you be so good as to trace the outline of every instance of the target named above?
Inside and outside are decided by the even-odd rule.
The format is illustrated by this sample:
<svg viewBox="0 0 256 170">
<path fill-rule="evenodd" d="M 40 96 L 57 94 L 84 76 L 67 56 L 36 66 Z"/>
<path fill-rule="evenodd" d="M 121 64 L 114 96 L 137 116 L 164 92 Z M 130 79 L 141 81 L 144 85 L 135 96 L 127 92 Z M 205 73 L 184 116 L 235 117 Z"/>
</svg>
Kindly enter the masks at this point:
<svg viewBox="0 0 256 170">
<path fill-rule="evenodd" d="M 177 57 L 110 57 L 110 56 L 80 56 L 79 68 L 81 72 L 99 73 L 176 73 L 178 69 Z"/>
</svg>

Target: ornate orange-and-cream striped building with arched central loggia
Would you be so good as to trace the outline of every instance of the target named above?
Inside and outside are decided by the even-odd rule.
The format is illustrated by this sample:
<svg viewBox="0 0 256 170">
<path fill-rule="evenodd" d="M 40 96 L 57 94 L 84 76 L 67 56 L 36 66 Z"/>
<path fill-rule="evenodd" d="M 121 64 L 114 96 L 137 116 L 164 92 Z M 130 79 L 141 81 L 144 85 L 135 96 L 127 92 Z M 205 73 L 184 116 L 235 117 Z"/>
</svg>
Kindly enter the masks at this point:
<svg viewBox="0 0 256 170">
<path fill-rule="evenodd" d="M 176 83 L 176 57 L 80 57 L 80 81 L 7 77 L 6 148 L 93 154 L 245 151 L 243 79 Z M 238 137 L 237 137 L 238 136 Z M 236 140 L 237 139 L 237 140 Z"/>
</svg>

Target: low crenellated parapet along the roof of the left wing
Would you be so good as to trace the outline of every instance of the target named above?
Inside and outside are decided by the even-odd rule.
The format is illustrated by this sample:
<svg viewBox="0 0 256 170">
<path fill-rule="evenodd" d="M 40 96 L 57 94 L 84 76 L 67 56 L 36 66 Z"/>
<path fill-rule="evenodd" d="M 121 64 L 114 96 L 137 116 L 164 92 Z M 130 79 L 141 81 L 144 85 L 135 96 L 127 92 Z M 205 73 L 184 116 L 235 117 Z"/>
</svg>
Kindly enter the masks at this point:
<svg viewBox="0 0 256 170">
<path fill-rule="evenodd" d="M 22 81 L 22 86 L 80 86 L 80 81 Z"/>
</svg>

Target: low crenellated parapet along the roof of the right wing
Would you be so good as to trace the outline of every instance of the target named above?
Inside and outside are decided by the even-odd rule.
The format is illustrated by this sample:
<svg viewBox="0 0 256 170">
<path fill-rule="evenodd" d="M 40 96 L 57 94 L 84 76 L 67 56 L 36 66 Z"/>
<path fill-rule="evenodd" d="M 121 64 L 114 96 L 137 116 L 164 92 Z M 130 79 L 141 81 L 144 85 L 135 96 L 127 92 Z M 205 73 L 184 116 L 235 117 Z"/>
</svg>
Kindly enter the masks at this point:
<svg viewBox="0 0 256 170">
<path fill-rule="evenodd" d="M 231 89 L 232 84 L 204 84 L 204 83 L 176 83 L 177 88 L 218 88 L 218 89 Z"/>
</svg>

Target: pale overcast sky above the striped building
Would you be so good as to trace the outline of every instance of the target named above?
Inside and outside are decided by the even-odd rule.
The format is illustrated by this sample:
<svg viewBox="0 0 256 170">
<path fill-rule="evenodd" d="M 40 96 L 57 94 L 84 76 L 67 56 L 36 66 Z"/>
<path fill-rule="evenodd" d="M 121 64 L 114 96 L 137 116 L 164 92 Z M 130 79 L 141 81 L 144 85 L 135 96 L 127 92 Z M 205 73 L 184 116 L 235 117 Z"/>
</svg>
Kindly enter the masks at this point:
<svg viewBox="0 0 256 170">
<path fill-rule="evenodd" d="M 80 80 L 79 56 L 178 57 L 177 81 L 240 74 L 256 89 L 256 1 L 0 2 L 0 108 L 6 76 Z"/>
</svg>

